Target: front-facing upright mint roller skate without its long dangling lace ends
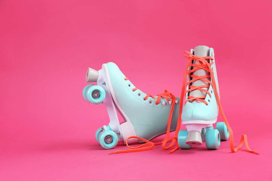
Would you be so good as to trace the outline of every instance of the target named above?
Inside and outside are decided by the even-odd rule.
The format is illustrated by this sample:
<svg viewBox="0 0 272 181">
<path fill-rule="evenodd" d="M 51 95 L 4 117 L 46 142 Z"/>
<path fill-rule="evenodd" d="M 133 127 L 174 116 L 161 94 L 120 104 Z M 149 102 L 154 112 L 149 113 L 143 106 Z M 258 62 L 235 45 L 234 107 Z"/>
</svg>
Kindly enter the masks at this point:
<svg viewBox="0 0 272 181">
<path fill-rule="evenodd" d="M 207 46 L 197 46 L 195 50 L 191 49 L 194 56 L 205 57 L 214 72 L 215 82 L 219 94 L 216 67 L 214 62 L 213 49 Z M 209 59 L 208 56 L 212 58 Z M 211 82 L 211 76 L 207 66 L 200 66 L 204 62 L 193 59 L 188 67 L 186 101 L 181 114 L 182 124 L 187 130 L 180 130 L 178 135 L 178 144 L 180 148 L 190 149 L 193 145 L 201 145 L 206 142 L 208 149 L 218 149 L 220 139 L 228 140 L 229 132 L 224 122 L 216 124 L 218 116 L 218 105 Z M 220 130 L 220 132 L 219 132 Z M 222 135 L 222 136 L 220 136 Z"/>
</svg>

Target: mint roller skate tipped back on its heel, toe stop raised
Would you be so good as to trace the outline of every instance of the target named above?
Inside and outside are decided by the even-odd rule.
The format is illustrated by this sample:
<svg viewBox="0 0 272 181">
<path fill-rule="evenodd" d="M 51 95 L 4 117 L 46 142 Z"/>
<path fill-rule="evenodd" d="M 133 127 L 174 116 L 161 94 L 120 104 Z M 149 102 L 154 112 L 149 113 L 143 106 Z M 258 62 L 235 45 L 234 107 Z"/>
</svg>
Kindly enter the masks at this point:
<svg viewBox="0 0 272 181">
<path fill-rule="evenodd" d="M 88 68 L 86 82 L 96 82 L 97 85 L 84 87 L 84 99 L 93 104 L 103 103 L 108 111 L 109 124 L 95 133 L 96 140 L 103 148 L 112 149 L 118 142 L 147 142 L 176 130 L 180 98 L 169 91 L 157 96 L 145 94 L 112 62 L 103 64 L 99 71 Z M 116 110 L 124 119 L 121 124 Z"/>
</svg>

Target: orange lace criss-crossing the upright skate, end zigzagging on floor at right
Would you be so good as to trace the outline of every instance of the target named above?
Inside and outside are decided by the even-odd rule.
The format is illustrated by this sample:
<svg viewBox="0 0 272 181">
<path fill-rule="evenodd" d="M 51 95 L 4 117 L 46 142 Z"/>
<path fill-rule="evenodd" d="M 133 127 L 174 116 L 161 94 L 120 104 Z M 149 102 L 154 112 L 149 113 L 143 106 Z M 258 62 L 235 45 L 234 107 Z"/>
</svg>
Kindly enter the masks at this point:
<svg viewBox="0 0 272 181">
<path fill-rule="evenodd" d="M 190 56 L 184 55 L 185 52 L 188 53 Z M 202 80 L 202 81 L 205 81 L 205 82 L 209 83 L 209 84 L 213 87 L 213 90 L 214 90 L 214 93 L 215 93 L 215 97 L 216 97 L 216 101 L 217 101 L 217 104 L 218 104 L 218 107 L 219 107 L 221 116 L 222 116 L 222 118 L 223 118 L 223 120 L 224 120 L 224 122 L 225 122 L 225 124 L 226 124 L 226 126 L 227 126 L 227 128 L 228 128 L 228 131 L 229 131 L 229 139 L 230 139 L 229 142 L 230 142 L 230 149 L 231 149 L 231 151 L 232 151 L 232 152 L 236 152 L 237 150 L 239 150 L 239 149 L 242 147 L 243 143 L 245 143 L 245 147 L 248 149 L 249 152 L 255 153 L 255 154 L 259 154 L 259 153 L 257 153 L 256 151 L 252 151 L 252 150 L 249 148 L 249 146 L 248 146 L 247 135 L 242 135 L 242 138 L 241 138 L 241 140 L 240 140 L 239 145 L 238 145 L 236 148 L 234 148 L 234 144 L 233 144 L 233 132 L 232 132 L 232 129 L 231 129 L 229 123 L 228 123 L 228 120 L 227 120 L 227 118 L 226 118 L 226 116 L 225 116 L 225 114 L 224 114 L 224 112 L 223 112 L 222 105 L 221 105 L 221 102 L 220 102 L 220 99 L 219 99 L 219 95 L 218 95 L 218 92 L 217 92 L 217 87 L 216 87 L 216 84 L 215 84 L 214 73 L 213 73 L 212 68 L 211 68 L 211 65 L 213 64 L 213 62 L 208 63 L 208 62 L 205 60 L 205 59 L 212 59 L 212 60 L 213 60 L 213 58 L 210 57 L 210 56 L 207 56 L 207 57 L 194 56 L 194 55 L 193 55 L 192 53 L 190 53 L 190 52 L 187 52 L 187 51 L 185 51 L 185 52 L 183 52 L 183 56 L 186 57 L 186 58 L 188 58 L 188 59 L 189 59 L 189 62 L 188 62 L 188 64 L 187 64 L 186 68 L 185 68 L 184 77 L 183 77 L 182 92 L 181 92 L 181 96 L 180 96 L 179 121 L 181 121 L 182 103 L 183 103 L 183 95 L 184 95 L 184 93 L 186 94 L 187 92 L 189 92 L 189 91 L 191 91 L 191 90 L 196 90 L 196 89 L 198 89 L 198 90 L 202 90 L 202 91 L 206 92 L 207 94 L 209 94 L 209 96 L 211 96 L 211 94 L 210 94 L 207 90 L 202 89 L 203 87 L 209 88 L 208 85 L 202 85 L 202 86 L 197 86 L 197 87 L 191 85 L 191 86 L 189 87 L 190 89 L 189 89 L 189 90 L 186 90 L 186 91 L 185 91 L 185 87 L 186 87 L 188 84 L 192 83 L 193 81 L 196 81 L 196 80 L 199 80 L 199 79 Z M 199 65 L 191 63 L 193 60 L 196 60 L 196 61 L 198 62 Z M 189 66 L 196 67 L 196 68 L 194 68 L 193 70 L 189 70 L 189 71 L 188 71 Z M 199 70 L 199 69 L 204 69 L 204 70 L 206 70 L 206 71 L 209 71 L 209 72 L 210 72 L 210 75 L 203 75 L 203 76 L 190 75 L 190 77 L 193 77 L 194 79 L 191 80 L 191 81 L 188 81 L 188 83 L 187 83 L 186 86 L 185 86 L 187 74 L 190 74 L 190 73 L 192 73 L 192 72 L 194 72 L 194 71 L 196 71 L 196 70 Z M 208 81 L 208 80 L 205 79 L 205 78 L 211 78 L 212 81 Z M 204 103 L 207 105 L 207 102 L 206 102 L 205 100 L 203 100 L 203 99 L 205 99 L 205 97 L 193 97 L 193 96 L 188 96 L 188 99 L 185 100 L 184 104 L 185 104 L 187 101 L 189 101 L 189 100 L 199 100 L 199 101 L 204 102 Z"/>
</svg>

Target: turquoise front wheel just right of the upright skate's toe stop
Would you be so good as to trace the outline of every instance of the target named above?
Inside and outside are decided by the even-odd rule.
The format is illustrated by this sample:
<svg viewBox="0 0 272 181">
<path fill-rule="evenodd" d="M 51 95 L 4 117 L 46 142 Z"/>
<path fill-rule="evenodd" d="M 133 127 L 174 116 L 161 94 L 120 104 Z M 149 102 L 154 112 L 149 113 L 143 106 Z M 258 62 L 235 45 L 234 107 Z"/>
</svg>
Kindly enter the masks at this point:
<svg viewBox="0 0 272 181">
<path fill-rule="evenodd" d="M 220 145 L 220 134 L 217 129 L 207 129 L 205 135 L 206 148 L 216 150 Z"/>
</svg>

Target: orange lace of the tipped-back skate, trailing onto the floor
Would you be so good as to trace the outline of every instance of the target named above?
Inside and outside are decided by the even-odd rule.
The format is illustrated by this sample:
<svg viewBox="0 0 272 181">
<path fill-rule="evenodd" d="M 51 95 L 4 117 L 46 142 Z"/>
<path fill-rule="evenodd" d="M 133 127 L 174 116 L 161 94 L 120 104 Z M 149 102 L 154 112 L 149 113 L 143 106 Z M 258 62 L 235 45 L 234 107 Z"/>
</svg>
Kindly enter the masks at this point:
<svg viewBox="0 0 272 181">
<path fill-rule="evenodd" d="M 128 78 L 125 78 L 125 80 L 128 80 Z M 138 88 L 135 87 L 133 89 L 133 91 L 137 90 Z M 178 122 L 177 123 L 177 128 L 176 128 L 176 132 L 175 132 L 175 136 L 174 137 L 171 137 L 169 138 L 169 134 L 170 134 L 170 126 L 171 126 L 171 122 L 172 122 L 172 116 L 173 116 L 173 111 L 174 111 L 174 107 L 175 107 L 175 101 L 176 101 L 176 97 L 170 93 L 168 90 L 165 90 L 163 94 L 159 94 L 157 95 L 158 98 L 157 98 L 157 101 L 156 101 L 156 104 L 160 103 L 160 98 L 163 97 L 164 99 L 166 99 L 168 101 L 168 103 L 170 103 L 170 100 L 169 98 L 171 98 L 172 100 L 172 106 L 171 106 L 171 110 L 170 110 L 170 114 L 169 114 L 169 118 L 168 118 L 168 124 L 167 124 L 167 132 L 166 132 L 166 136 L 164 138 L 164 140 L 160 143 L 153 143 L 152 141 L 148 141 L 144 138 L 141 138 L 141 137 L 138 137 L 138 136 L 130 136 L 128 137 L 128 139 L 126 140 L 126 144 L 128 146 L 128 148 L 130 148 L 129 150 L 119 150 L 119 151 L 115 151 L 115 152 L 112 152 L 112 153 L 109 153 L 109 154 L 113 154 L 113 153 L 128 153 L 128 152 L 136 152 L 136 151 L 146 151 L 146 150 L 151 150 L 154 148 L 155 145 L 159 145 L 159 144 L 162 144 L 162 148 L 167 150 L 171 147 L 173 147 L 173 145 L 175 144 L 175 142 L 177 141 L 177 139 L 174 139 L 175 137 L 177 137 L 178 133 L 179 133 L 179 130 L 180 130 L 180 123 L 181 122 Z M 168 98 L 168 97 L 169 98 Z M 156 99 L 153 95 L 151 94 L 147 94 L 145 97 L 144 97 L 144 100 L 146 100 L 148 97 L 152 97 L 154 99 Z M 136 139 L 139 139 L 141 141 L 144 141 L 146 143 L 140 145 L 140 146 L 137 146 L 137 147 L 131 147 L 128 145 L 128 140 L 130 138 L 136 138 Z M 171 142 L 171 144 L 169 146 L 166 146 L 166 143 L 167 141 L 170 141 L 172 140 L 173 141 Z M 179 148 L 178 144 L 176 144 L 176 147 Z"/>
</svg>

